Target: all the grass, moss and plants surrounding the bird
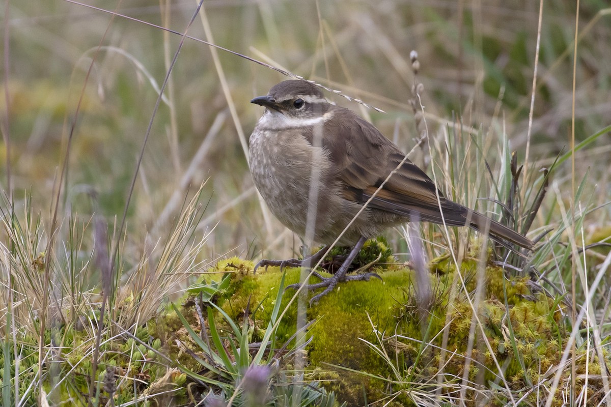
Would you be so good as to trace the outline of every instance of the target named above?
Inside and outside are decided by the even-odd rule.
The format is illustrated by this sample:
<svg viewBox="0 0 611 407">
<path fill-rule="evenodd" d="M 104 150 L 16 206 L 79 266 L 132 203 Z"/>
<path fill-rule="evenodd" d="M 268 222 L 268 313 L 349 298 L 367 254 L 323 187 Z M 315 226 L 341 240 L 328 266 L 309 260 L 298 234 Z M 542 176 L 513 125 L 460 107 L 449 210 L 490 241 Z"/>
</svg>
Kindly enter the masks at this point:
<svg viewBox="0 0 611 407">
<path fill-rule="evenodd" d="M 6 2 L 1 405 L 609 405 L 611 9 L 537 4 Z M 406 225 L 312 307 L 253 273 L 302 251 L 247 170 L 279 67 L 536 250 Z"/>
</svg>

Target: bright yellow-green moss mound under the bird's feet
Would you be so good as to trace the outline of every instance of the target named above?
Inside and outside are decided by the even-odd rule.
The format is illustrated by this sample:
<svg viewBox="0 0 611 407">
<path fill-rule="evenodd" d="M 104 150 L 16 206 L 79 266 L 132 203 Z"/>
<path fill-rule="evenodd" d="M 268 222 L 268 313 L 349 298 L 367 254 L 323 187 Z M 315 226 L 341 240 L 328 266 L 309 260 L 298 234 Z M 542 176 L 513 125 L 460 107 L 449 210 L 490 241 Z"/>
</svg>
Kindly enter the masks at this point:
<svg viewBox="0 0 611 407">
<path fill-rule="evenodd" d="M 271 318 L 282 273 L 277 267 L 256 275 L 243 272 L 249 265 L 230 259 L 210 271 L 233 271 L 231 288 L 218 301 L 236 321 L 249 309 L 255 325 L 252 340 L 257 341 Z M 365 398 L 374 402 L 388 394 L 397 395 L 398 405 L 410 405 L 411 386 L 435 381 L 440 362 L 444 373 L 463 376 L 465 363 L 460 355 L 474 361 L 468 372 L 470 380 L 488 383 L 500 375 L 516 390 L 558 364 L 567 336 L 562 307 L 552 298 L 530 292 L 529 278 L 508 278 L 494 265 L 481 270 L 477 258 L 465 259 L 459 274 L 449 257 L 432 261 L 430 270 L 433 295 L 428 304 L 415 295 L 414 272 L 391 267 L 376 268 L 383 281 L 340 283 L 310 307 L 307 316 L 314 322 L 307 333 L 311 338 L 308 369 L 316 380 L 326 383 L 327 390 L 335 391 L 348 405 L 362 405 Z M 297 283 L 300 273 L 298 268 L 287 268 L 285 285 Z M 480 275 L 484 284 L 479 284 L 483 292 L 477 320 L 482 328 L 473 330 L 472 303 Z M 294 290 L 285 290 L 282 295 L 280 309 L 286 311 L 276 332 L 280 343 L 295 333 L 298 301 L 287 309 L 294 294 Z M 445 344 L 444 329 L 449 331 Z M 475 336 L 470 338 L 472 333 Z M 468 344 L 472 344 L 470 355 L 466 355 Z M 497 371 L 497 363 L 503 372 Z"/>
</svg>

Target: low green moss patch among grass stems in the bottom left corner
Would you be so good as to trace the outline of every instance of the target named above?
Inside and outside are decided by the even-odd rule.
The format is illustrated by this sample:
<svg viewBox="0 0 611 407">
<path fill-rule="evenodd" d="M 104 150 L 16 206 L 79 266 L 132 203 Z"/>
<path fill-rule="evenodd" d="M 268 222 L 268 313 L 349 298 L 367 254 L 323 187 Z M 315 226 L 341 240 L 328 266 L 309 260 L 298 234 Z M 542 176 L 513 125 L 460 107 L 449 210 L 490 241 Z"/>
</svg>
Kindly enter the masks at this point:
<svg viewBox="0 0 611 407">
<path fill-rule="evenodd" d="M 93 325 L 97 321 L 89 323 Z M 134 336 L 144 344 L 152 344 L 153 347 L 161 348 L 161 341 L 155 341 L 149 335 L 149 332 L 153 331 L 155 331 L 153 327 L 140 326 L 136 328 Z M 70 405 L 86 406 L 89 401 L 87 394 L 89 394 L 89 378 L 92 370 L 92 347 L 95 344 L 95 340 L 92 340 L 92 331 L 76 330 L 70 324 L 56 325 L 48 328 L 44 337 L 46 342 L 43 344 L 43 352 L 45 355 L 53 355 L 51 358 L 45 358 L 42 363 L 42 372 L 40 372 L 43 377 L 42 386 L 47 392 L 48 400 L 71 400 Z M 155 381 L 166 371 L 165 359 L 148 350 L 143 343 L 131 337 L 127 338 L 127 336 L 117 335 L 112 329 L 103 330 L 98 352 L 97 378 L 103 380 L 104 384 L 108 384 L 108 389 L 112 389 L 112 395 L 107 391 L 101 391 L 98 395 L 100 404 L 108 403 L 111 396 L 114 397 L 115 403 L 134 400 L 146 389 L 149 381 Z M 12 347 L 9 349 L 11 351 L 4 354 L 4 348 L 0 347 L 0 360 L 4 362 L 4 358 L 7 358 L 11 367 L 10 377 L 14 378 L 16 376 L 15 360 L 13 360 Z M 21 400 L 21 403 L 36 405 L 37 395 L 28 387 L 31 386 L 33 380 L 38 380 L 37 377 L 39 377 L 37 338 L 24 335 L 20 340 L 20 355 L 19 394 L 20 397 L 23 395 L 29 397 Z M 0 372 L 3 371 L 0 369 Z M 109 372 L 115 374 L 111 376 Z M 123 381 L 119 385 L 120 376 L 135 377 L 138 380 L 135 381 L 135 384 Z M 12 391 L 13 386 L 7 389 Z M 7 397 L 14 397 L 14 395 L 7 394 Z M 186 398 L 176 397 L 175 400 L 185 402 Z"/>
</svg>

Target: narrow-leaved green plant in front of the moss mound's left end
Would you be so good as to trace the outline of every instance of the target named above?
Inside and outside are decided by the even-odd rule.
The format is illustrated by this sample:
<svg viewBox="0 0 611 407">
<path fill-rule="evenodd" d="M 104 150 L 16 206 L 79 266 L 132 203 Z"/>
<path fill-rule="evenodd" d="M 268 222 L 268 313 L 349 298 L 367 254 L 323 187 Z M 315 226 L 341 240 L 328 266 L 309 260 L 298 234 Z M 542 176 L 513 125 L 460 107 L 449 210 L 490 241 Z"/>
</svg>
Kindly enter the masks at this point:
<svg viewBox="0 0 611 407">
<path fill-rule="evenodd" d="M 225 261 L 220 268 L 225 269 L 227 264 L 233 262 L 236 260 Z M 197 350 L 188 350 L 188 353 L 196 362 L 199 372 L 196 373 L 191 362 L 190 367 L 183 365 L 181 369 L 196 383 L 208 388 L 207 394 L 202 396 L 205 405 L 338 405 L 332 392 L 326 392 L 316 382 L 305 384 L 303 373 L 291 374 L 288 369 L 291 358 L 299 355 L 299 349 L 287 348 L 293 338 L 286 344 L 277 342 L 284 281 L 285 275 L 280 278 L 273 310 L 265 329 L 257 328 L 251 322 L 256 319 L 257 310 L 262 304 L 259 303 L 251 312 L 250 303 L 247 303 L 240 322 L 233 320 L 219 306 L 231 297 L 229 293 L 235 292 L 236 286 L 240 286 L 241 278 L 235 273 L 224 273 L 220 275 L 219 281 L 211 278 L 208 283 L 202 281 L 189 287 L 192 300 L 188 301 L 187 307 L 196 309 L 196 323 L 189 322 L 181 310 L 175 304 L 172 305 L 188 337 L 197 347 Z M 205 316 L 201 311 L 205 312 Z M 192 325 L 198 326 L 196 328 Z M 255 328 L 262 333 L 262 340 L 252 343 Z"/>
</svg>

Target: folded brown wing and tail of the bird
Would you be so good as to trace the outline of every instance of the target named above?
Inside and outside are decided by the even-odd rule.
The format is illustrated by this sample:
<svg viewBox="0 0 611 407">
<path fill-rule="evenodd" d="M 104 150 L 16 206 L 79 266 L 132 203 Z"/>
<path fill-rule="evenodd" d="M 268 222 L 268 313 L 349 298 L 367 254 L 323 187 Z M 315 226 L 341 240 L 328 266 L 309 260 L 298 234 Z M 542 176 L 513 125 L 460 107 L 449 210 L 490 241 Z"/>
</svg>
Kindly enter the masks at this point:
<svg viewBox="0 0 611 407">
<path fill-rule="evenodd" d="M 513 229 L 445 199 L 424 171 L 410 160 L 404 160 L 397 146 L 351 110 L 337 108 L 333 119 L 324 123 L 322 145 L 331 154 L 337 176 L 344 184 L 346 199 L 365 203 L 396 169 L 371 200 L 370 207 L 406 217 L 417 212 L 420 220 L 470 226 L 488 231 L 506 247 L 511 248 L 499 239 L 532 249 L 533 243 Z"/>
</svg>

